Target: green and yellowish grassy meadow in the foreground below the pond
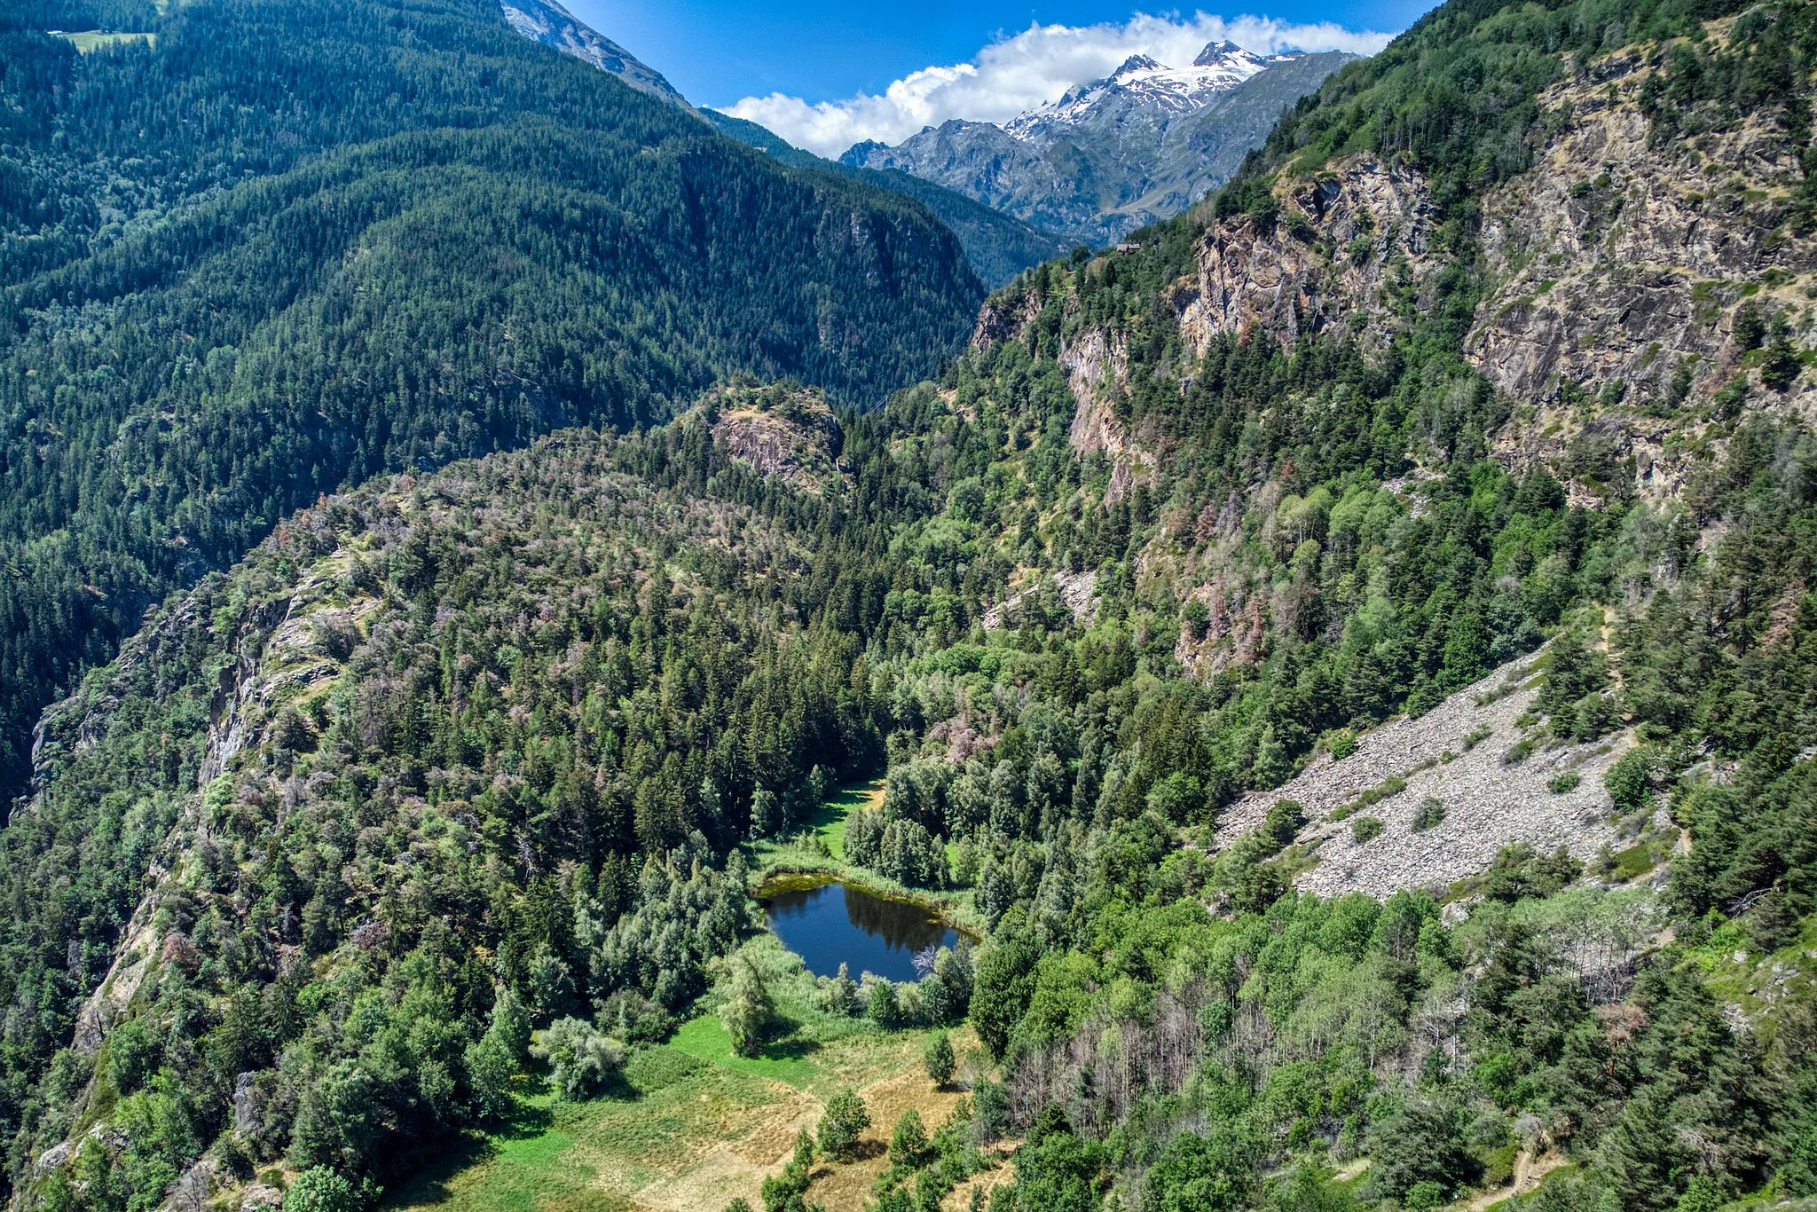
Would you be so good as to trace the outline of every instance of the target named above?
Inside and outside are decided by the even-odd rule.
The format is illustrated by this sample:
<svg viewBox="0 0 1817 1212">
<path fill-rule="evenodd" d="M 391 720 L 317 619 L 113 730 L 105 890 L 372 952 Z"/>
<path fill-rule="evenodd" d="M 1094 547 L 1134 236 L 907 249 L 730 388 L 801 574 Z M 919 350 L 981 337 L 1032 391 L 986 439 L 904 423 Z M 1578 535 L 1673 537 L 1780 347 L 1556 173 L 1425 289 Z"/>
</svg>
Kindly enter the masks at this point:
<svg viewBox="0 0 1817 1212">
<path fill-rule="evenodd" d="M 781 1170 L 796 1132 L 819 1125 L 825 1101 L 852 1087 L 870 1108 L 870 1147 L 852 1165 L 816 1167 L 809 1197 L 829 1212 L 858 1212 L 883 1172 L 896 1119 L 916 1108 L 928 1127 L 961 1094 L 938 1090 L 921 1067 L 930 1032 L 885 1032 L 865 1019 L 823 1014 L 814 978 L 770 934 L 745 945 L 783 1025 L 761 1056 L 732 1054 L 714 994 L 709 1012 L 661 1045 L 634 1048 L 601 1098 L 525 1099 L 514 1125 L 392 1190 L 391 1208 L 438 1212 L 720 1212 L 743 1196 L 763 1207 L 763 1177 Z M 978 1050 L 954 1032 L 961 1056 Z"/>
</svg>

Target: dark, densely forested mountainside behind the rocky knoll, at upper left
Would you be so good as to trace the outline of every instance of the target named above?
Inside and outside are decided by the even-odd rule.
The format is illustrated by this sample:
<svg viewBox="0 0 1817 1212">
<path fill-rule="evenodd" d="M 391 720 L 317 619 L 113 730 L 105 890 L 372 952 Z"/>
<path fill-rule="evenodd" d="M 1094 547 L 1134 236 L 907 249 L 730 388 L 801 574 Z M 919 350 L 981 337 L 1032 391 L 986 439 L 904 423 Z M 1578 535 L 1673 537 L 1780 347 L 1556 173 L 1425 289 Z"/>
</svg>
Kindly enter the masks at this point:
<svg viewBox="0 0 1817 1212">
<path fill-rule="evenodd" d="M 874 403 L 981 298 L 919 205 L 772 164 L 487 0 L 0 20 L 5 789 L 149 601 L 322 491 L 660 420 L 734 371 Z M 42 33 L 96 24 L 154 40 Z"/>
</svg>

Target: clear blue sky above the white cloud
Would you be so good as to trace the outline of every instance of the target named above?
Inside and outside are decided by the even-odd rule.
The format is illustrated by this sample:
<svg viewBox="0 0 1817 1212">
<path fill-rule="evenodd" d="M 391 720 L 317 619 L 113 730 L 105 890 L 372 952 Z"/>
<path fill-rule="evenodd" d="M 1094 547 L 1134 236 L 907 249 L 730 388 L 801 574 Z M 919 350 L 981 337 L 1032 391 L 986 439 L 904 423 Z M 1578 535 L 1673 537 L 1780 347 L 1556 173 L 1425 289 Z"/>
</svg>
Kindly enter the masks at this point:
<svg viewBox="0 0 1817 1212">
<path fill-rule="evenodd" d="M 772 93 L 810 105 L 879 94 L 925 67 L 965 64 L 1032 22 L 1121 25 L 1139 11 L 1090 0 L 567 0 L 567 5 L 667 75 L 690 100 L 714 107 Z M 1285 0 L 1223 15 L 1257 13 L 1288 24 L 1332 22 L 1394 33 L 1428 7 L 1426 0 Z M 1194 15 L 1161 5 L 1147 11 Z"/>
</svg>

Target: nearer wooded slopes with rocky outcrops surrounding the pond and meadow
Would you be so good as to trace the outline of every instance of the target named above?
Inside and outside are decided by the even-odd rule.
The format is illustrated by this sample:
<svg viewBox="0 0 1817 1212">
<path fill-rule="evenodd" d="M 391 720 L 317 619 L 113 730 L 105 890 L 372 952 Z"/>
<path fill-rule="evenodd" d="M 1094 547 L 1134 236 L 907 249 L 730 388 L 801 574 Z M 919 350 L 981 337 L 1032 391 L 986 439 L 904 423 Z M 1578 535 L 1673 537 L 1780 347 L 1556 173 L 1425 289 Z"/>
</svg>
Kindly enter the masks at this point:
<svg viewBox="0 0 1817 1212">
<path fill-rule="evenodd" d="M 532 1027 L 576 1098 L 690 1016 L 761 1058 L 747 854 L 834 863 L 870 774 L 838 869 L 985 929 L 814 994 L 983 1045 L 879 1208 L 1817 1196 L 1813 73 L 1806 4 L 1454 0 L 879 411 L 738 382 L 296 514 L 45 721 L 15 1199 L 354 1207 Z M 1541 767 L 1594 850 L 1346 883 Z M 740 1194 L 850 1192 L 834 1110 Z"/>
</svg>

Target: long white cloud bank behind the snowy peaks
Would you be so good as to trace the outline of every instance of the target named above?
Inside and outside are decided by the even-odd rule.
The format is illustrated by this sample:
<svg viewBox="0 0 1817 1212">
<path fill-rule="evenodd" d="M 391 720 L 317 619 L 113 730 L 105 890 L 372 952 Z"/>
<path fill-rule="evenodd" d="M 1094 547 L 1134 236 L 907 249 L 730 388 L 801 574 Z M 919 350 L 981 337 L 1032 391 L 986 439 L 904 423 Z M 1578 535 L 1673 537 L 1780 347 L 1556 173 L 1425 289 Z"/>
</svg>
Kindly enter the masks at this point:
<svg viewBox="0 0 1817 1212">
<path fill-rule="evenodd" d="M 1332 22 L 1292 25 L 1270 16 L 1190 20 L 1137 13 L 1121 25 L 1030 25 L 999 38 L 968 64 L 923 67 L 894 82 L 881 96 L 859 93 L 843 102 L 809 104 L 772 93 L 747 96 L 725 113 L 767 125 L 796 147 L 838 156 L 874 138 L 899 144 L 948 118 L 1008 122 L 1067 89 L 1114 73 L 1130 55 L 1185 67 L 1205 44 L 1228 38 L 1257 55 L 1277 51 L 1354 51 L 1374 55 L 1394 35 L 1345 29 Z"/>
</svg>

